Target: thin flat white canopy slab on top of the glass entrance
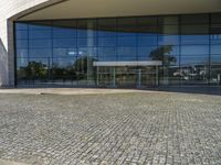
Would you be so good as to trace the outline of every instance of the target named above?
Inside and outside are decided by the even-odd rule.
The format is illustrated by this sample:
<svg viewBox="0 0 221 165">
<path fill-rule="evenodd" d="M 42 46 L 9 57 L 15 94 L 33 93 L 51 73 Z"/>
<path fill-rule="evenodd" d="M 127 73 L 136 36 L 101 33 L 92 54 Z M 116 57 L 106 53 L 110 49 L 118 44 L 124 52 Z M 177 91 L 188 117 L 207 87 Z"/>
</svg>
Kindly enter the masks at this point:
<svg viewBox="0 0 221 165">
<path fill-rule="evenodd" d="M 160 66 L 161 61 L 146 61 L 146 62 L 94 62 L 93 66 Z"/>
</svg>

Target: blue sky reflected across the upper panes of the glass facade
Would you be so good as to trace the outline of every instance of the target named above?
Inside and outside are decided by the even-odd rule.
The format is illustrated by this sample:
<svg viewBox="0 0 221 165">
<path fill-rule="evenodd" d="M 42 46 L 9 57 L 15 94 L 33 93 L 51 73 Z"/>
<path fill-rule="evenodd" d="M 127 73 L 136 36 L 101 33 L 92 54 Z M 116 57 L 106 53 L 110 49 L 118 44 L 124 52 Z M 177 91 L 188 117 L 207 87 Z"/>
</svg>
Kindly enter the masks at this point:
<svg viewBox="0 0 221 165">
<path fill-rule="evenodd" d="M 190 18 L 182 19 L 189 21 Z M 159 21 L 159 33 L 156 32 L 155 18 L 152 20 L 138 19 L 138 26 L 133 24 L 136 22 L 134 18 L 120 19 L 118 26 L 114 25 L 116 23 L 114 19 L 109 21 L 107 19 L 106 25 L 105 22 L 99 22 L 101 26 L 97 31 L 93 30 L 93 28 L 96 28 L 95 22 L 90 21 L 87 23 L 85 20 L 81 22 L 78 29 L 76 26 L 52 28 L 19 23 L 17 24 L 18 56 L 67 57 L 88 55 L 98 57 L 98 61 L 150 61 L 150 53 L 164 45 L 172 46 L 171 51 L 165 53 L 165 55 L 176 56 L 177 58 L 180 56 L 181 63 L 190 61 L 194 63 L 197 59 L 200 63 L 204 62 L 202 58 L 209 58 L 210 53 L 213 55 L 221 54 L 220 34 L 212 34 L 209 37 L 206 34 L 208 33 L 207 24 L 202 26 L 183 24 L 180 28 L 180 32 L 183 34 L 178 35 L 180 32 L 176 16 L 160 18 Z M 102 30 L 102 28 L 106 30 Z M 212 28 L 212 32 L 215 33 L 221 29 L 219 25 Z M 27 30 L 29 30 L 28 33 Z M 210 38 L 211 44 L 214 44 L 211 48 L 209 48 Z"/>
</svg>

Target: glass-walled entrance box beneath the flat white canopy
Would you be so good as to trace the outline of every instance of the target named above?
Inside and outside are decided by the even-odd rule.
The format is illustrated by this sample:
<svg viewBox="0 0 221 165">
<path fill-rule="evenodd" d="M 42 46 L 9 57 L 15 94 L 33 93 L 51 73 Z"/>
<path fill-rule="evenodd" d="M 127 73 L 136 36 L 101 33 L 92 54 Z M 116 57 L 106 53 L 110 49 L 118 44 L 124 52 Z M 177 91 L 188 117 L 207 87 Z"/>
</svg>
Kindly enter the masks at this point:
<svg viewBox="0 0 221 165">
<path fill-rule="evenodd" d="M 97 86 L 118 88 L 145 88 L 158 86 L 157 66 L 98 67 Z"/>
</svg>

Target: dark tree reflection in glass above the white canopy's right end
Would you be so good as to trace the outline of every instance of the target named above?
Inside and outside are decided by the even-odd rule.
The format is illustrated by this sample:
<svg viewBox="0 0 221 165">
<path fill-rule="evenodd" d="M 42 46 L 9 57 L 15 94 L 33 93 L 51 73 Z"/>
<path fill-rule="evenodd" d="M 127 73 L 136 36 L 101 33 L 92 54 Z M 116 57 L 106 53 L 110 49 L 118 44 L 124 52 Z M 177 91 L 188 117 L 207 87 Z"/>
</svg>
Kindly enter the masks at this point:
<svg viewBox="0 0 221 165">
<path fill-rule="evenodd" d="M 165 66 L 176 64 L 177 58 L 169 55 L 172 51 L 172 45 L 164 45 L 150 52 L 150 58 L 152 61 L 161 61 Z"/>
</svg>

